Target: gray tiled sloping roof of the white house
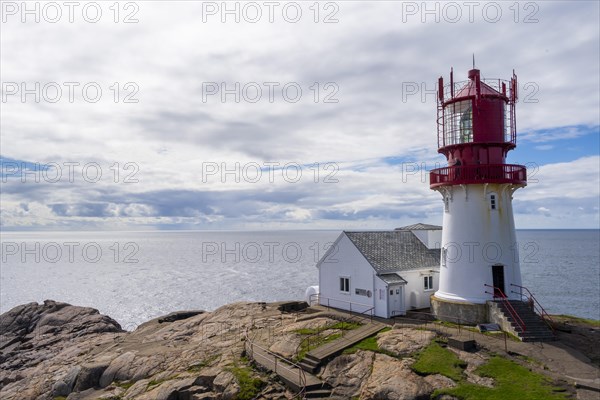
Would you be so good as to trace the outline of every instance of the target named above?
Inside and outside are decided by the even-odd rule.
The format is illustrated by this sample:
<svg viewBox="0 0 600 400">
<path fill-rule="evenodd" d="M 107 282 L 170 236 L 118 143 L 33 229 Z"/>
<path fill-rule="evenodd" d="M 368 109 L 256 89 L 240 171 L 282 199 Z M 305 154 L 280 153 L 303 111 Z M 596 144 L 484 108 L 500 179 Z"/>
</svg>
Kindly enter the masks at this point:
<svg viewBox="0 0 600 400">
<path fill-rule="evenodd" d="M 437 268 L 440 249 L 428 249 L 411 231 L 344 232 L 377 273 Z"/>
</svg>

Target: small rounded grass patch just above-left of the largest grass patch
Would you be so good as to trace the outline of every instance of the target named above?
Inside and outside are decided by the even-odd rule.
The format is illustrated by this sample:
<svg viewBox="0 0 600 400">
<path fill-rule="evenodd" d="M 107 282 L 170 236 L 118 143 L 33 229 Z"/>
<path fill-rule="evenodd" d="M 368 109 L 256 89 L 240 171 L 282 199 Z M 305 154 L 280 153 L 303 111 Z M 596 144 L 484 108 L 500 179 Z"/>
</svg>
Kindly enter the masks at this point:
<svg viewBox="0 0 600 400">
<path fill-rule="evenodd" d="M 419 375 L 441 374 L 454 381 L 461 381 L 466 366 L 456 354 L 434 341 L 418 354 L 412 369 Z"/>
</svg>

